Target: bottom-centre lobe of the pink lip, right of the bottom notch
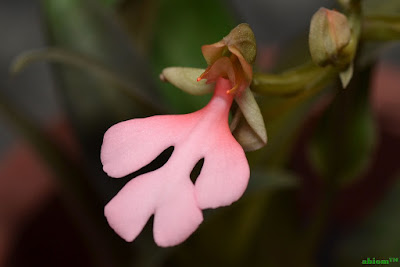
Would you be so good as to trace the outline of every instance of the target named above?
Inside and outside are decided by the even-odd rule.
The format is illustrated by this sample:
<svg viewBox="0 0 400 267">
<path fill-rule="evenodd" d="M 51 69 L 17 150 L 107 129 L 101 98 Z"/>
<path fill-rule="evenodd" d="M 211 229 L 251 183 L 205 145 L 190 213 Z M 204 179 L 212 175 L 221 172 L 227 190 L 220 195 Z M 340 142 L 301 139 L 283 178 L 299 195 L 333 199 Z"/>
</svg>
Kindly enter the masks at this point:
<svg viewBox="0 0 400 267">
<path fill-rule="evenodd" d="M 196 203 L 194 186 L 184 177 L 173 186 L 168 198 L 154 216 L 154 240 L 160 247 L 175 246 L 185 241 L 203 221 Z M 171 187 L 172 189 L 172 187 Z"/>
</svg>

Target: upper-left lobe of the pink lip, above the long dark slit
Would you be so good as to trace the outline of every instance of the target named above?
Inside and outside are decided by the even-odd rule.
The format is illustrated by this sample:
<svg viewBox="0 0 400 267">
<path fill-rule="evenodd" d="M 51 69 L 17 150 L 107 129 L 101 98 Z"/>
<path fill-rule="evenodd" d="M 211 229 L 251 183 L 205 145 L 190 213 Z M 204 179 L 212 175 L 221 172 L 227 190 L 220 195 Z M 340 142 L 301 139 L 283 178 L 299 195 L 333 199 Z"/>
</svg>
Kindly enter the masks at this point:
<svg viewBox="0 0 400 267">
<path fill-rule="evenodd" d="M 153 116 L 115 124 L 104 134 L 101 148 L 104 171 L 119 178 L 149 164 L 186 136 L 197 116 L 197 113 Z"/>
</svg>

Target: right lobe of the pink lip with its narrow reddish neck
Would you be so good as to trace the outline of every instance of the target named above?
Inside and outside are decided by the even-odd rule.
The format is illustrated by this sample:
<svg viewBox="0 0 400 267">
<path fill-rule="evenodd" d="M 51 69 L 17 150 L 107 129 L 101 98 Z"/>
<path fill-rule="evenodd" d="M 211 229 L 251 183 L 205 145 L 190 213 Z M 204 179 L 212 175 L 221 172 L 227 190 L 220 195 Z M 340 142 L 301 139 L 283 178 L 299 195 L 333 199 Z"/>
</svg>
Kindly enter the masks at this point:
<svg viewBox="0 0 400 267">
<path fill-rule="evenodd" d="M 196 148 L 204 156 L 204 165 L 195 183 L 196 199 L 201 209 L 232 204 L 246 190 L 250 177 L 249 165 L 242 147 L 228 126 L 232 96 L 229 80 L 219 78 L 215 93 L 193 133 Z M 209 131 L 212 129 L 212 131 Z"/>
</svg>

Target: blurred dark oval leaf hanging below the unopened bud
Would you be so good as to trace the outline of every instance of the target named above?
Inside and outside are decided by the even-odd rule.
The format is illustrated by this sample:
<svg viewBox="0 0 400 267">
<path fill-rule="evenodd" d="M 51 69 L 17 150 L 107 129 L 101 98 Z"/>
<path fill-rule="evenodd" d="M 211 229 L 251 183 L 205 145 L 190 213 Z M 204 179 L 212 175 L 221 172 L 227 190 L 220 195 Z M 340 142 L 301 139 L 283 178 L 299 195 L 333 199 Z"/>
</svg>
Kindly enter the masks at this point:
<svg viewBox="0 0 400 267">
<path fill-rule="evenodd" d="M 369 104 L 370 70 L 339 90 L 319 120 L 310 144 L 310 160 L 323 178 L 348 184 L 368 167 L 375 144 Z"/>
</svg>

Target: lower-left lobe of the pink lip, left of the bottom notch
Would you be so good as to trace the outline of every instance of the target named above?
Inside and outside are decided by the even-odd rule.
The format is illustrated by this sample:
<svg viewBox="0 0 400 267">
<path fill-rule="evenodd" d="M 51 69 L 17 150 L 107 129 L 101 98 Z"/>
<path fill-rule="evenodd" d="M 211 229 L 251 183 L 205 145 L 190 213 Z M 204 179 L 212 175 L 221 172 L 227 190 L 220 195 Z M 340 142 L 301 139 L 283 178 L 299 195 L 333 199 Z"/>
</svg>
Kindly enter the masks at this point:
<svg viewBox="0 0 400 267">
<path fill-rule="evenodd" d="M 132 179 L 104 208 L 111 228 L 128 242 L 133 241 L 154 213 L 161 191 L 158 170 Z"/>
</svg>

